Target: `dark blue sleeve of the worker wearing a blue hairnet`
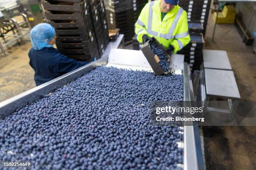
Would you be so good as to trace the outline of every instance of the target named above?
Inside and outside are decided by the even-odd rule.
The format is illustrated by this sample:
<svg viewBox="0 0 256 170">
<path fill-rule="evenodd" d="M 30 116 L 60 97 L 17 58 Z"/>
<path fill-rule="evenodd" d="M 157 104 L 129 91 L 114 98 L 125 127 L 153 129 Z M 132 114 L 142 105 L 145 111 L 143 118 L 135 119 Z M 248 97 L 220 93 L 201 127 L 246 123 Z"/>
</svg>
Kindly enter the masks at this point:
<svg viewBox="0 0 256 170">
<path fill-rule="evenodd" d="M 54 63 L 54 71 L 59 73 L 67 73 L 86 64 L 87 62 L 80 63 L 76 60 L 68 58 L 66 55 L 57 53 L 56 62 Z"/>
</svg>

